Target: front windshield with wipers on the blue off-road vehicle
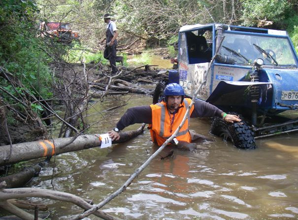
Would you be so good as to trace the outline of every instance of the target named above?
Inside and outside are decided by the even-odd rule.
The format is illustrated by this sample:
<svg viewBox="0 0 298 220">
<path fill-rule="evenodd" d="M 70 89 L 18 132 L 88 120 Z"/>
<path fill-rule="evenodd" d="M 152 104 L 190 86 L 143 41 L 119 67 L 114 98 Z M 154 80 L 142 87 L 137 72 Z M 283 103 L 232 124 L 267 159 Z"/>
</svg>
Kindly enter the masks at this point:
<svg viewBox="0 0 298 220">
<path fill-rule="evenodd" d="M 265 65 L 296 66 L 295 55 L 287 38 L 225 32 L 221 54 L 235 63 L 249 64 L 262 58 Z M 247 61 L 248 60 L 248 61 Z"/>
</svg>

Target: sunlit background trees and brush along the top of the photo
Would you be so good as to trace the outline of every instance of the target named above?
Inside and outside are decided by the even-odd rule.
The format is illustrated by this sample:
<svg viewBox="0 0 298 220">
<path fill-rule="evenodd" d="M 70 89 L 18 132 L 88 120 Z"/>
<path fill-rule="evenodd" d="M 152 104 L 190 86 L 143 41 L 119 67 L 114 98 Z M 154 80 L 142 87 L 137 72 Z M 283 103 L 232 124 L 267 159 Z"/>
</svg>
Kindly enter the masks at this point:
<svg viewBox="0 0 298 220">
<path fill-rule="evenodd" d="M 121 43 L 126 44 L 132 41 L 133 35 L 156 42 L 168 40 L 181 26 L 198 23 L 257 26 L 266 20 L 272 21 L 276 29 L 282 29 L 280 24 L 297 7 L 296 0 L 36 1 L 41 21 L 69 22 L 71 29 L 78 31 L 81 42 L 92 48 L 102 45 L 106 25 L 102 15 L 106 12 L 116 21 Z"/>
</svg>

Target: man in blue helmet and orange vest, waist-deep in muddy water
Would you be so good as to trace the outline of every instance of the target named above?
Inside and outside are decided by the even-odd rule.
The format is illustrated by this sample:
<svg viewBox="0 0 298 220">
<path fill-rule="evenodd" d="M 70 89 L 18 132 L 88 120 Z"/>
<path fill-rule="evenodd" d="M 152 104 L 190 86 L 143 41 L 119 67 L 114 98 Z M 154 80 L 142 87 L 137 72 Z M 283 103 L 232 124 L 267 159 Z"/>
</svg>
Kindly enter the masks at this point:
<svg viewBox="0 0 298 220">
<path fill-rule="evenodd" d="M 134 123 L 146 123 L 149 124 L 152 141 L 158 144 L 158 146 L 162 146 L 166 139 L 169 138 L 180 125 L 192 101 L 190 98 L 185 98 L 184 95 L 184 90 L 179 84 L 168 84 L 164 91 L 165 101 L 151 104 L 150 106 L 129 108 L 121 117 L 117 126 L 108 132 L 109 136 L 112 140 L 119 140 L 119 132 L 125 127 Z M 202 100 L 195 100 L 190 110 L 190 117 L 186 119 L 176 139 L 174 139 L 175 144 L 178 145 L 179 142 L 191 143 L 192 138 L 189 132 L 190 118 L 213 116 L 221 116 L 229 123 L 241 121 L 238 116 L 227 114 L 212 104 Z M 190 150 L 187 147 L 186 149 Z"/>
</svg>

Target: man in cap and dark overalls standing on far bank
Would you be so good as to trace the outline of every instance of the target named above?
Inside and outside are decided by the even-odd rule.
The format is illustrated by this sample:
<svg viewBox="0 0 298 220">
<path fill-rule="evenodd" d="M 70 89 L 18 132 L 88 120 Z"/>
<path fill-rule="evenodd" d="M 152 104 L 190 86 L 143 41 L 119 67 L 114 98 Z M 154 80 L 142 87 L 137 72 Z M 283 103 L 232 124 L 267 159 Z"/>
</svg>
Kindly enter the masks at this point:
<svg viewBox="0 0 298 220">
<path fill-rule="evenodd" d="M 118 69 L 116 67 L 116 47 L 118 31 L 115 22 L 111 21 L 110 14 L 104 14 L 103 19 L 104 22 L 107 24 L 105 31 L 106 41 L 103 57 L 110 61 L 112 75 L 115 75 L 118 72 Z"/>
</svg>

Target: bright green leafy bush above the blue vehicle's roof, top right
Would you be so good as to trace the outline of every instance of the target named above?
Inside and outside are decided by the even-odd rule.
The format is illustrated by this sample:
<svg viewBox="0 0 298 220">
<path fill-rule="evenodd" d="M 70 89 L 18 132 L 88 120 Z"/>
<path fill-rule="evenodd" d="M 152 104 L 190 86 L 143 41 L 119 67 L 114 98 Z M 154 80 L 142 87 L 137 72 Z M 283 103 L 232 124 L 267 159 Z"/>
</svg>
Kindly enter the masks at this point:
<svg viewBox="0 0 298 220">
<path fill-rule="evenodd" d="M 288 0 L 243 0 L 242 6 L 242 25 L 255 26 L 260 20 L 283 20 L 292 5 Z"/>
</svg>

